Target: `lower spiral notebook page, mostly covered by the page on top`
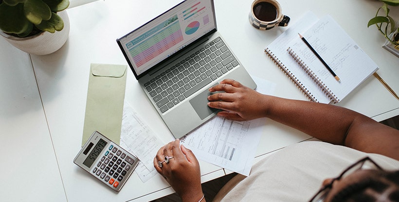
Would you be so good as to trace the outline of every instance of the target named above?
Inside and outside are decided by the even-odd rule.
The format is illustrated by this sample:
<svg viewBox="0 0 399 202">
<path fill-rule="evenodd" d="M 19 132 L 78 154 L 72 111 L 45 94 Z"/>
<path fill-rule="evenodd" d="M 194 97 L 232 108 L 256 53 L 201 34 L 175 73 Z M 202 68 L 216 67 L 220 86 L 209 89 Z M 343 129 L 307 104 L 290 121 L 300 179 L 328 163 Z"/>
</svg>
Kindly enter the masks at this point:
<svg viewBox="0 0 399 202">
<path fill-rule="evenodd" d="M 308 94 L 313 101 L 329 103 L 331 100 L 321 90 L 306 71 L 302 69 L 287 51 L 299 38 L 298 33 L 305 33 L 313 24 L 319 20 L 312 12 L 307 12 L 303 17 L 290 25 L 284 33 L 280 34 L 265 51 L 280 66 L 291 79 Z M 295 81 L 297 80 L 297 81 Z"/>
</svg>

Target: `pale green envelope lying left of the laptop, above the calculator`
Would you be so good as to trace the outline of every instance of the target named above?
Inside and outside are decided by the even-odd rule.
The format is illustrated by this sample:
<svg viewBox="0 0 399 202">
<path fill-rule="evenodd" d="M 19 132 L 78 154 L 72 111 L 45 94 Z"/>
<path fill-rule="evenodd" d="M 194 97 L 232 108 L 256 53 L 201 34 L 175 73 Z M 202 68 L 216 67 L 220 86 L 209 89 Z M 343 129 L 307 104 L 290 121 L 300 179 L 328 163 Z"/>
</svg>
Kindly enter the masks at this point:
<svg viewBox="0 0 399 202">
<path fill-rule="evenodd" d="M 82 146 L 94 131 L 119 144 L 126 65 L 91 64 Z"/>
</svg>

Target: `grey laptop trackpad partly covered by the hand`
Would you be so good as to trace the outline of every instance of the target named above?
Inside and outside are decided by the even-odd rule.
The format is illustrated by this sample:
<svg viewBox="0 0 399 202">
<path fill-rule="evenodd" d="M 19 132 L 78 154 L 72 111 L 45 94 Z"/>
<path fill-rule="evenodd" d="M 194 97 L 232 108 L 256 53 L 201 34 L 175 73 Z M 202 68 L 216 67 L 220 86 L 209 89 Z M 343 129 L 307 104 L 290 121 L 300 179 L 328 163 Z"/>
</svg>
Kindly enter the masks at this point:
<svg viewBox="0 0 399 202">
<path fill-rule="evenodd" d="M 217 85 L 217 84 L 215 84 Z M 217 93 L 217 92 L 209 92 L 208 89 L 202 91 L 196 97 L 190 100 L 191 106 L 193 106 L 194 110 L 197 112 L 198 116 L 200 116 L 201 120 L 207 118 L 209 115 L 221 111 L 220 109 L 211 108 L 208 106 L 208 96 Z"/>
</svg>

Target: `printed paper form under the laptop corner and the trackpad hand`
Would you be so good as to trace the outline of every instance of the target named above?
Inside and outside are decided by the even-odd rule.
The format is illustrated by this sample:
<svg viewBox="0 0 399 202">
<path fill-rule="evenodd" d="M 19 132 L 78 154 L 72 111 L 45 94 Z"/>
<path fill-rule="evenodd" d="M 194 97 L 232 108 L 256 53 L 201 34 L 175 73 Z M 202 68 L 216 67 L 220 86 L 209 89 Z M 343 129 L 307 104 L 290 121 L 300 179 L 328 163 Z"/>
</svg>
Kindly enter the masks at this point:
<svg viewBox="0 0 399 202">
<path fill-rule="evenodd" d="M 253 77 L 257 91 L 272 94 L 276 84 Z M 232 121 L 215 117 L 181 139 L 200 160 L 248 176 L 266 118 Z"/>
</svg>

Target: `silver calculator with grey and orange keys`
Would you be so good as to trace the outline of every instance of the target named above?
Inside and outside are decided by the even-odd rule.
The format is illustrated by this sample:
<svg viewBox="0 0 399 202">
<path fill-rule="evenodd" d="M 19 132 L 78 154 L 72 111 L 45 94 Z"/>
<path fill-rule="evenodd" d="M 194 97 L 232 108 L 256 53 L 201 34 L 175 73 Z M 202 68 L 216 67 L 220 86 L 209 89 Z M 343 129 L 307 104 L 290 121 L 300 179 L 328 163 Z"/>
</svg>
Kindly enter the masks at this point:
<svg viewBox="0 0 399 202">
<path fill-rule="evenodd" d="M 118 192 L 133 173 L 139 159 L 94 131 L 73 163 Z"/>
</svg>

